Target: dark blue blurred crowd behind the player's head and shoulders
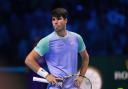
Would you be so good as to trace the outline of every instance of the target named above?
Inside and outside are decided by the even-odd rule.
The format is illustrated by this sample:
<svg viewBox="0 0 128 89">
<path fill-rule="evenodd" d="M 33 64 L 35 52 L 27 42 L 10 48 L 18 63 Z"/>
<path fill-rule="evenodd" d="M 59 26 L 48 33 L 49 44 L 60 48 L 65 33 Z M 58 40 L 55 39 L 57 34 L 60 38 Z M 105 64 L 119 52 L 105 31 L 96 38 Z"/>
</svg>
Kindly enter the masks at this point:
<svg viewBox="0 0 128 89">
<path fill-rule="evenodd" d="M 24 65 L 36 43 L 54 29 L 51 10 L 69 11 L 90 56 L 128 54 L 128 0 L 0 0 L 0 66 Z"/>
</svg>

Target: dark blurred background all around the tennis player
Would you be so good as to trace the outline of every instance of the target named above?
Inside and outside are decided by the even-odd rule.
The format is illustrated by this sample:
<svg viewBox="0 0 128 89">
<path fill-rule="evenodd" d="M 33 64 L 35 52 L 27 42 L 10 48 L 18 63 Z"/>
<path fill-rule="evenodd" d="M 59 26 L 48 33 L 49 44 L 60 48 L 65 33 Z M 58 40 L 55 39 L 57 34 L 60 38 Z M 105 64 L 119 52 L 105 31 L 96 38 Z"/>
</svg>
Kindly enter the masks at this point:
<svg viewBox="0 0 128 89">
<path fill-rule="evenodd" d="M 0 0 L 0 89 L 46 88 L 32 82 L 36 74 L 24 60 L 54 30 L 56 7 L 69 11 L 68 30 L 83 37 L 89 67 L 101 79 L 92 80 L 99 87 L 94 89 L 128 89 L 128 0 Z"/>
</svg>

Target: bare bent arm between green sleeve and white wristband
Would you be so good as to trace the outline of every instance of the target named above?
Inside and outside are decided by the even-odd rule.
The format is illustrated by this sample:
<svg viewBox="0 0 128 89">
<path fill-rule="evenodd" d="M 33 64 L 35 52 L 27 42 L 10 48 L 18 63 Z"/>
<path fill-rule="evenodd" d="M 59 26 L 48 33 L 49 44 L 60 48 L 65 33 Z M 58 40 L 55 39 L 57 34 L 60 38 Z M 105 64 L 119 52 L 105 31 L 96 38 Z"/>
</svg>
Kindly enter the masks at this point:
<svg viewBox="0 0 128 89">
<path fill-rule="evenodd" d="M 41 56 L 34 50 L 32 50 L 28 56 L 25 59 L 25 64 L 32 69 L 34 72 L 37 72 L 38 69 L 40 68 L 39 64 L 37 63 L 37 60 Z"/>
</svg>

